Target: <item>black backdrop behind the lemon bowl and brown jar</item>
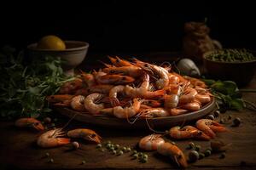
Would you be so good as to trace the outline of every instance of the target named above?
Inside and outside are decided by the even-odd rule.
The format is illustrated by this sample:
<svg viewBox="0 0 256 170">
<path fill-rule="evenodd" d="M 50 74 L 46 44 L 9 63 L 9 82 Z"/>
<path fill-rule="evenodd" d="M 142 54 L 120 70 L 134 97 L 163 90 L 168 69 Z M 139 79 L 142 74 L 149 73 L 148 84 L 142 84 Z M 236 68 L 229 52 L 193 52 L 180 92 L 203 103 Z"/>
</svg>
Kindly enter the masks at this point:
<svg viewBox="0 0 256 170">
<path fill-rule="evenodd" d="M 1 5 L 0 45 L 54 34 L 90 42 L 90 52 L 179 51 L 183 24 L 203 21 L 225 48 L 255 49 L 253 3 L 218 1 L 27 1 Z"/>
</svg>

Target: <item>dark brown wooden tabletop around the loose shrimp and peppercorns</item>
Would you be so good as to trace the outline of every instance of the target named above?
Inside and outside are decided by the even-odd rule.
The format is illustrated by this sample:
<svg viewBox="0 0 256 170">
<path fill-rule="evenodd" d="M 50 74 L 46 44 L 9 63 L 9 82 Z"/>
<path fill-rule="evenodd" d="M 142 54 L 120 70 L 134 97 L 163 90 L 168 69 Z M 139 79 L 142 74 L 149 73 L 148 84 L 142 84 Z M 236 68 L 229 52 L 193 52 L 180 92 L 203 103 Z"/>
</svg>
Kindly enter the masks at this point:
<svg viewBox="0 0 256 170">
<path fill-rule="evenodd" d="M 93 62 L 92 62 L 93 63 Z M 90 69 L 90 67 L 87 67 Z M 256 88 L 256 78 L 247 86 L 247 88 Z M 243 94 L 243 99 L 256 104 L 255 94 Z M 256 168 L 256 113 L 251 110 L 227 111 L 221 114 L 221 117 L 238 116 L 241 118 L 239 127 L 231 127 L 232 122 L 225 126 L 230 129 L 229 133 L 218 133 L 217 139 L 225 143 L 232 143 L 230 150 L 226 151 L 226 157 L 220 159 L 220 154 L 212 154 L 200 161 L 190 163 L 188 169 L 241 169 Z M 61 127 L 68 121 L 67 117 L 57 117 L 56 127 Z M 191 123 L 193 124 L 193 122 Z M 130 146 L 137 150 L 137 142 L 152 132 L 148 129 L 124 130 L 118 128 L 96 127 L 81 122 L 71 122 L 67 129 L 75 127 L 85 127 L 95 130 L 102 136 L 103 142 L 108 140 L 122 146 Z M 172 125 L 170 125 L 172 127 Z M 66 129 L 66 130 L 67 130 Z M 165 130 L 165 129 L 163 129 Z M 70 145 L 42 149 L 36 145 L 36 139 L 40 133 L 26 128 L 17 128 L 14 122 L 2 121 L 0 123 L 0 169 L 84 169 L 84 168 L 143 168 L 143 169 L 176 169 L 175 162 L 171 159 L 160 156 L 155 151 L 147 152 L 148 162 L 142 163 L 131 159 L 131 152 L 122 156 L 115 156 L 108 150 L 101 151 L 96 149 L 96 144 L 79 140 L 81 147 L 78 150 L 70 150 Z M 186 146 L 190 141 L 201 145 L 201 150 L 206 150 L 210 146 L 210 141 L 199 140 L 173 140 L 165 137 L 166 141 L 174 141 L 188 156 L 189 150 Z M 49 157 L 45 156 L 49 153 Z M 54 162 L 49 162 L 52 158 Z M 82 164 L 82 161 L 86 161 Z"/>
</svg>

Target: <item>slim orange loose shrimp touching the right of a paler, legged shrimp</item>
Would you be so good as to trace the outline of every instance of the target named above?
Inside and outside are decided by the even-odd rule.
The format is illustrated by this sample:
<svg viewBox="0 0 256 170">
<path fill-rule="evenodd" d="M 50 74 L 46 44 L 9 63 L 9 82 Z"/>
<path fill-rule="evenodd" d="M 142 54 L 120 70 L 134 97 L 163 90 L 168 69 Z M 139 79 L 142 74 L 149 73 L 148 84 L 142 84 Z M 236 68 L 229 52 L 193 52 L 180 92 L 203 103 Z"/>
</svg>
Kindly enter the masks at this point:
<svg viewBox="0 0 256 170">
<path fill-rule="evenodd" d="M 77 128 L 67 132 L 69 138 L 82 138 L 96 143 L 101 143 L 102 137 L 100 137 L 95 131 L 88 128 Z"/>
</svg>

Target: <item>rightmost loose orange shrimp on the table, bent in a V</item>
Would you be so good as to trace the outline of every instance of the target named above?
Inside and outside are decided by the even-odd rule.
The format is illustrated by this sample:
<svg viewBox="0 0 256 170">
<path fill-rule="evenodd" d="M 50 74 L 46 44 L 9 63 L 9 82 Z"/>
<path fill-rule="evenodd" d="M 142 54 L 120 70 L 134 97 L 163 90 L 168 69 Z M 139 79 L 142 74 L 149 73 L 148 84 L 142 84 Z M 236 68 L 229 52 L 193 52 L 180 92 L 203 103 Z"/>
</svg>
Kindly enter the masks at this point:
<svg viewBox="0 0 256 170">
<path fill-rule="evenodd" d="M 210 119 L 200 119 L 195 124 L 197 128 L 199 128 L 202 132 L 206 133 L 211 138 L 215 138 L 215 133 L 217 132 L 227 131 L 223 125 Z"/>
</svg>

